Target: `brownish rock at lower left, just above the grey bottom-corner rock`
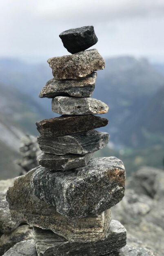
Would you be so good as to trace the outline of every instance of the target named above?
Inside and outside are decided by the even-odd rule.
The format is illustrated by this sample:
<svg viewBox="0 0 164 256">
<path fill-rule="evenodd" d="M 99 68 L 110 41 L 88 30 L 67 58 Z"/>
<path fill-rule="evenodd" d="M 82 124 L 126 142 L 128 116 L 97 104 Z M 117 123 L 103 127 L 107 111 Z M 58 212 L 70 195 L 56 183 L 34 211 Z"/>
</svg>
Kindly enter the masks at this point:
<svg viewBox="0 0 164 256">
<path fill-rule="evenodd" d="M 20 241 L 33 239 L 33 229 L 29 225 L 22 225 L 10 234 L 3 234 L 0 237 L 0 256 Z"/>
</svg>

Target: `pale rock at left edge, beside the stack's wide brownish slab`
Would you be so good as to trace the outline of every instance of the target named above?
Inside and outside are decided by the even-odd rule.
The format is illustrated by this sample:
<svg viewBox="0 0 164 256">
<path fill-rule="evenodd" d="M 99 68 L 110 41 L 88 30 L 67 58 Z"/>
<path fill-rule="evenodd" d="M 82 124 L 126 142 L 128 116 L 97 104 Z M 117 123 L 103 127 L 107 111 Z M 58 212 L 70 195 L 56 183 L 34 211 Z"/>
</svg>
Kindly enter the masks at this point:
<svg viewBox="0 0 164 256">
<path fill-rule="evenodd" d="M 9 186 L 13 186 L 14 179 L 0 180 L 0 233 L 8 234 L 18 227 L 19 223 L 11 220 L 6 193 Z"/>
</svg>

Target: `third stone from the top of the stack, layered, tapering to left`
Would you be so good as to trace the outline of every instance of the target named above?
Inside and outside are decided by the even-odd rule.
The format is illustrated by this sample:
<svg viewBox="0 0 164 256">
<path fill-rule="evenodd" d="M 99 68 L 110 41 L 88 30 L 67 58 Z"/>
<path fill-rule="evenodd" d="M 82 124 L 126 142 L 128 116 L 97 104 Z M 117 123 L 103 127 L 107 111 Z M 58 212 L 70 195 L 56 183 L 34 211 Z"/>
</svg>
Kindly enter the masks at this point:
<svg viewBox="0 0 164 256">
<path fill-rule="evenodd" d="M 78 98 L 91 97 L 95 88 L 97 74 L 94 72 L 83 79 L 51 79 L 42 88 L 40 98 L 55 98 L 56 96 L 72 96 Z"/>
</svg>

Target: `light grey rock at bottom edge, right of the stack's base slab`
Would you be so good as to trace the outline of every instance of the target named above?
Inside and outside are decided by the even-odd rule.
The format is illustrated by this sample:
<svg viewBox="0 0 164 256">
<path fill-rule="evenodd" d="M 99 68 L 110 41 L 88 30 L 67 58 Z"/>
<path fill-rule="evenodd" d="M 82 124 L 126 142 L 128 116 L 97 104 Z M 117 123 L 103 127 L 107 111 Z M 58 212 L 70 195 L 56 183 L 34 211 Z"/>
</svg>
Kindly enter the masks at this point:
<svg viewBox="0 0 164 256">
<path fill-rule="evenodd" d="M 153 256 L 154 254 L 146 248 L 132 247 L 126 245 L 119 249 L 117 252 L 105 254 L 106 256 Z"/>
</svg>

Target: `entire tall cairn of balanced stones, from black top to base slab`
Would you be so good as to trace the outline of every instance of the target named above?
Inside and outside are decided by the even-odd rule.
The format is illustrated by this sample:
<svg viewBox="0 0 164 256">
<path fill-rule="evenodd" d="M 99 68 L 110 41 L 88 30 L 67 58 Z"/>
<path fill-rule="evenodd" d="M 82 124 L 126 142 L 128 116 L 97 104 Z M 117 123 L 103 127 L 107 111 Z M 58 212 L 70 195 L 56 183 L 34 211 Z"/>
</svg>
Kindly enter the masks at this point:
<svg viewBox="0 0 164 256">
<path fill-rule="evenodd" d="M 36 123 L 40 166 L 9 188 L 11 217 L 33 225 L 38 256 L 118 255 L 126 229 L 111 220 L 110 208 L 124 196 L 124 165 L 116 157 L 92 158 L 109 140 L 94 130 L 108 124 L 95 115 L 109 108 L 91 98 L 95 71 L 105 63 L 98 50 L 86 50 L 98 41 L 93 26 L 60 38 L 72 55 L 48 60 L 54 78 L 39 97 L 52 98 L 52 111 L 61 116 Z"/>
</svg>

